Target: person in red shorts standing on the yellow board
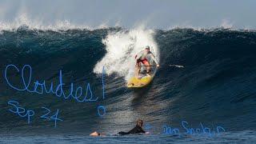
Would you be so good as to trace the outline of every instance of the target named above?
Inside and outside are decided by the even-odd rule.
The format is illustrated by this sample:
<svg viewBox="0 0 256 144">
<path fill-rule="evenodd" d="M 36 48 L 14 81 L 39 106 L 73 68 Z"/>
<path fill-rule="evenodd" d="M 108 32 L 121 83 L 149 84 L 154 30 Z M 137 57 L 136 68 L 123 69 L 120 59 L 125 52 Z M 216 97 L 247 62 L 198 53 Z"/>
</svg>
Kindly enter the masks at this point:
<svg viewBox="0 0 256 144">
<path fill-rule="evenodd" d="M 150 51 L 150 46 L 146 46 L 145 50 L 140 51 L 135 55 L 136 66 L 135 66 L 135 78 L 138 78 L 139 71 L 141 70 L 141 63 L 146 66 L 146 75 L 150 76 L 150 62 L 148 59 L 152 58 L 154 62 L 159 66 L 158 61 L 154 58 L 154 54 Z"/>
</svg>

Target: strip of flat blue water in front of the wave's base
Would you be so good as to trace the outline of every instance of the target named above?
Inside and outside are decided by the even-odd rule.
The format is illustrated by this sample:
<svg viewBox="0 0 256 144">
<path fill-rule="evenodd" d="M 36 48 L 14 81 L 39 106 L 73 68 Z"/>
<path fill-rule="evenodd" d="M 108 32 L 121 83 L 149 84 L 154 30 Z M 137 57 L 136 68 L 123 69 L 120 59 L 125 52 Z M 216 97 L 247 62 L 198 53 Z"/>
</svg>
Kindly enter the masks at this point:
<svg viewBox="0 0 256 144">
<path fill-rule="evenodd" d="M 223 133 L 218 136 L 187 135 L 182 137 L 166 134 L 90 137 L 80 134 L 7 135 L 2 143 L 254 143 L 255 132 Z"/>
</svg>

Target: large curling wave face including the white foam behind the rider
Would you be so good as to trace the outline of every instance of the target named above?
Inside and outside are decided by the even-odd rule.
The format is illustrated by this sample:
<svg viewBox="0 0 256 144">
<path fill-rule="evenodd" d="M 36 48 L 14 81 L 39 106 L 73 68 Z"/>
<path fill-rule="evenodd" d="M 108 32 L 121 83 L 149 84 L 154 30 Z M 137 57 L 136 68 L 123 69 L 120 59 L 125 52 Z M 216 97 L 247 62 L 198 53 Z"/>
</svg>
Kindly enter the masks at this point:
<svg viewBox="0 0 256 144">
<path fill-rule="evenodd" d="M 146 88 L 128 90 L 126 80 L 134 70 L 134 54 L 150 45 L 161 67 Z M 223 126 L 228 131 L 256 129 L 256 32 L 246 30 L 2 30 L 0 34 L 0 126 L 2 133 L 81 133 L 94 130 L 116 133 L 129 130 L 138 118 L 158 128 L 164 124 L 198 127 Z M 4 77 L 6 66 L 30 65 L 31 82 L 58 85 L 59 70 L 68 91 L 91 90 L 97 102 L 76 102 L 55 94 L 14 90 Z M 170 65 L 182 65 L 178 68 Z M 102 98 L 102 66 L 105 66 L 105 98 Z M 8 78 L 21 86 L 14 69 Z M 31 86 L 32 87 L 32 86 Z M 36 111 L 31 123 L 8 111 L 10 100 Z M 97 106 L 106 106 L 99 117 Z M 48 107 L 63 119 L 54 122 L 40 116 Z"/>
</svg>

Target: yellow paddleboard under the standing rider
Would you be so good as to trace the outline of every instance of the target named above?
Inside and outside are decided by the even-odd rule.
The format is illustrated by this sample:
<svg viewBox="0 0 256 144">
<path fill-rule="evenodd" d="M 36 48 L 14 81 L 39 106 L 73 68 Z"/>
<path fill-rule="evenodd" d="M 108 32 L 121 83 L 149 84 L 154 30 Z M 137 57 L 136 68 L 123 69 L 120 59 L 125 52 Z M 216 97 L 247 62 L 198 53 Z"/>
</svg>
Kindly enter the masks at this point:
<svg viewBox="0 0 256 144">
<path fill-rule="evenodd" d="M 155 67 L 151 67 L 150 68 L 150 75 L 147 76 L 146 75 L 146 70 L 144 68 L 144 70 L 142 69 L 139 74 L 138 74 L 138 78 L 132 77 L 129 79 L 129 81 L 127 82 L 127 87 L 129 88 L 140 88 L 140 87 L 144 87 L 150 84 L 150 82 L 153 80 L 154 78 L 154 74 L 156 73 L 156 68 Z"/>
</svg>

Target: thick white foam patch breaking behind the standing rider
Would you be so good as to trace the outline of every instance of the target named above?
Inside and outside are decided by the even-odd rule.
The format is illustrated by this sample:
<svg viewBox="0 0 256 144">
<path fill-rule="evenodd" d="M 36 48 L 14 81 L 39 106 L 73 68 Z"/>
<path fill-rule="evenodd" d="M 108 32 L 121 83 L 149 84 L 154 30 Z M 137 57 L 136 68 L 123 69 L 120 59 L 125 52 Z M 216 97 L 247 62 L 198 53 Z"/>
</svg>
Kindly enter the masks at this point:
<svg viewBox="0 0 256 144">
<path fill-rule="evenodd" d="M 102 43 L 106 45 L 106 55 L 94 66 L 96 74 L 101 74 L 102 66 L 105 66 L 106 74 L 118 74 L 127 80 L 134 75 L 135 54 L 145 46 L 150 46 L 150 50 L 159 61 L 154 30 L 138 27 L 134 30 L 110 33 Z"/>
</svg>

